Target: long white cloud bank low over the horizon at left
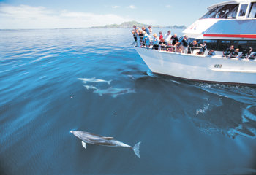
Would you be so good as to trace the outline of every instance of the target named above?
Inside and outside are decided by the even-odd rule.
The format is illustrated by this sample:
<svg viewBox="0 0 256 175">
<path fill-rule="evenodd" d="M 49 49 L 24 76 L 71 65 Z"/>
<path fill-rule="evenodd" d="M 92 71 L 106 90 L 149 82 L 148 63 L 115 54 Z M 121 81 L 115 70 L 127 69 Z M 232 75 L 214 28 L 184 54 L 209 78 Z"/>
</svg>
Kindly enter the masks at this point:
<svg viewBox="0 0 256 175">
<path fill-rule="evenodd" d="M 83 28 L 123 23 L 132 20 L 122 16 L 87 12 L 53 11 L 45 7 L 0 4 L 0 28 Z"/>
</svg>

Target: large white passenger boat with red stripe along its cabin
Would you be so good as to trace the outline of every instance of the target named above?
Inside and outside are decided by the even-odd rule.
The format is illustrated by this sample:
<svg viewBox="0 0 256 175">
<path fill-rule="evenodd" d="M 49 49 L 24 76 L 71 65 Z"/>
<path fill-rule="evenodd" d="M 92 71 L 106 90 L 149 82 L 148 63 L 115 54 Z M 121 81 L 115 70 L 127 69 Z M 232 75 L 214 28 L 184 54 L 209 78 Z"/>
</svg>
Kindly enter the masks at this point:
<svg viewBox="0 0 256 175">
<path fill-rule="evenodd" d="M 199 82 L 232 85 L 256 85 L 256 61 L 253 59 L 223 57 L 230 45 L 242 50 L 256 51 L 256 1 L 225 1 L 208 7 L 202 18 L 183 31 L 190 42 L 207 42 L 207 49 L 216 55 L 196 52 L 167 52 L 135 47 L 148 68 L 155 74 L 164 74 Z"/>
</svg>

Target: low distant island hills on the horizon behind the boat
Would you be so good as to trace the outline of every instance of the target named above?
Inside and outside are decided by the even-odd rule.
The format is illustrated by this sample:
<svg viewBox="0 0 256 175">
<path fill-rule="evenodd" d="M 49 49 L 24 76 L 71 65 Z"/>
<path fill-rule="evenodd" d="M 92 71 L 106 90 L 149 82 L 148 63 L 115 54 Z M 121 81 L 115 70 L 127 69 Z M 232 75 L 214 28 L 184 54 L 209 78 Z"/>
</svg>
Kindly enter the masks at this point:
<svg viewBox="0 0 256 175">
<path fill-rule="evenodd" d="M 94 26 L 94 27 L 91 27 L 91 28 L 132 28 L 133 25 L 141 28 L 142 26 L 151 26 L 151 25 L 148 25 L 148 24 L 143 24 L 143 23 L 138 23 L 137 21 L 133 20 L 133 21 L 128 21 L 128 22 L 124 22 L 124 23 L 121 23 L 121 24 L 108 24 L 106 26 Z M 181 29 L 185 29 L 186 26 L 177 26 L 177 25 L 174 25 L 174 26 L 154 26 L 152 25 L 152 28 L 181 28 Z"/>
</svg>

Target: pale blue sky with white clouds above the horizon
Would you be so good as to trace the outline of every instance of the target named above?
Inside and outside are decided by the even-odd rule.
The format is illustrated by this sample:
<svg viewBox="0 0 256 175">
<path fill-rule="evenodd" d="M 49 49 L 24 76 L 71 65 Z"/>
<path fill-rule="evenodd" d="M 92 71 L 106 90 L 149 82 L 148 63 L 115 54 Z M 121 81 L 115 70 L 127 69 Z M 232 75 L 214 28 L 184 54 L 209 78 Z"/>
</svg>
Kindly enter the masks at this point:
<svg viewBox="0 0 256 175">
<path fill-rule="evenodd" d="M 0 29 L 86 28 L 136 20 L 189 26 L 223 0 L 0 0 Z"/>
</svg>

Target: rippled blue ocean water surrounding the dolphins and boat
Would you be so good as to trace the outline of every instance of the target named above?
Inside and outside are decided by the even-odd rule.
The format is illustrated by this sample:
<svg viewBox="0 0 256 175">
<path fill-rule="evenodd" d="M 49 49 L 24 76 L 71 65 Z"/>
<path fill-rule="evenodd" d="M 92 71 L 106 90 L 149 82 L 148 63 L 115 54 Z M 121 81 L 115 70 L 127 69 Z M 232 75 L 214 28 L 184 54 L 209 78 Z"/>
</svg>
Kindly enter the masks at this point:
<svg viewBox="0 0 256 175">
<path fill-rule="evenodd" d="M 129 29 L 0 31 L 0 174 L 256 174 L 256 88 L 152 74 L 132 42 Z M 141 141 L 141 158 L 84 149 L 71 130 Z"/>
</svg>

